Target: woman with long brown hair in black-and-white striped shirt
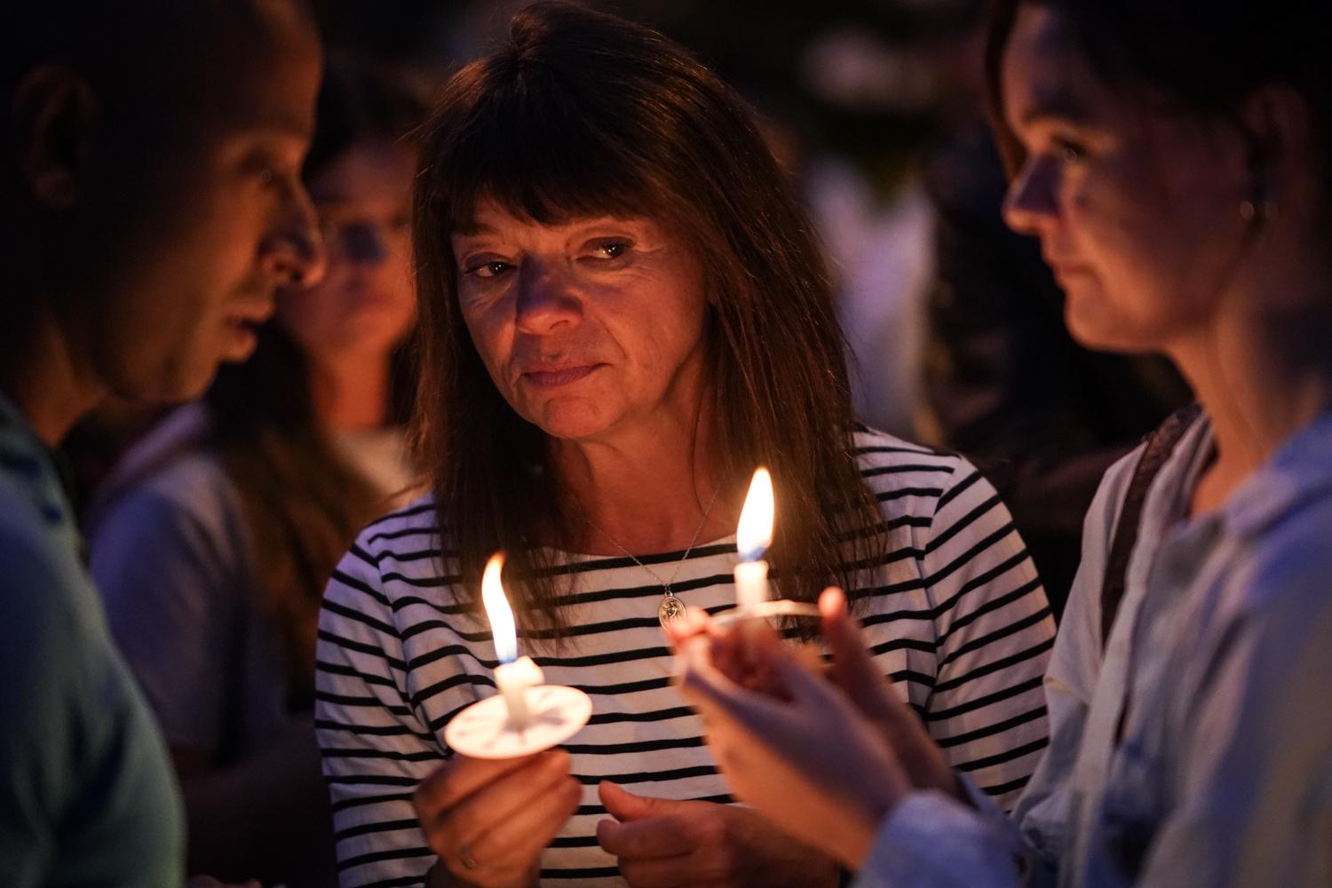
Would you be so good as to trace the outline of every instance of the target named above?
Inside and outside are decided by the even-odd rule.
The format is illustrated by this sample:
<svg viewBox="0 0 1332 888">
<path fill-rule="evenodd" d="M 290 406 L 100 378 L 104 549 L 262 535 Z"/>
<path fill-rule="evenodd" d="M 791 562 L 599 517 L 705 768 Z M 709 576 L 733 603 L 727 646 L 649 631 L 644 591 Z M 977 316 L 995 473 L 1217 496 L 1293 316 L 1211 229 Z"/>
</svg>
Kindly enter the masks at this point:
<svg viewBox="0 0 1332 888">
<path fill-rule="evenodd" d="M 361 534 L 321 618 L 344 885 L 836 884 L 725 804 L 670 686 L 659 620 L 734 603 L 759 463 L 778 592 L 850 590 L 950 762 L 1012 800 L 1046 744 L 1044 592 L 975 469 L 855 425 L 809 222 L 729 88 L 651 31 L 527 7 L 426 126 L 416 238 L 433 493 Z M 526 652 L 594 714 L 469 760 L 444 728 L 494 694 L 501 549 Z"/>
</svg>

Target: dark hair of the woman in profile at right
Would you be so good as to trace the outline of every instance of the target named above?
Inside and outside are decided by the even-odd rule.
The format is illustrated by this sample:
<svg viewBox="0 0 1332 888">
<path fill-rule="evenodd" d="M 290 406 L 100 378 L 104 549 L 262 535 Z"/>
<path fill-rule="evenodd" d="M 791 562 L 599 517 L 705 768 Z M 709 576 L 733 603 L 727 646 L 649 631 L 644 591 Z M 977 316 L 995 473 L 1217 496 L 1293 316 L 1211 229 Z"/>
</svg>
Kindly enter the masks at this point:
<svg viewBox="0 0 1332 888">
<path fill-rule="evenodd" d="M 1022 145 L 1003 114 L 1003 56 L 1018 11 L 1058 9 L 1114 88 L 1199 117 L 1229 117 L 1255 89 L 1281 84 L 1309 104 L 1332 146 L 1332 28 L 1321 0 L 996 0 L 986 47 L 987 104 L 1010 172 Z M 1324 160 L 1324 168 L 1332 164 Z"/>
</svg>

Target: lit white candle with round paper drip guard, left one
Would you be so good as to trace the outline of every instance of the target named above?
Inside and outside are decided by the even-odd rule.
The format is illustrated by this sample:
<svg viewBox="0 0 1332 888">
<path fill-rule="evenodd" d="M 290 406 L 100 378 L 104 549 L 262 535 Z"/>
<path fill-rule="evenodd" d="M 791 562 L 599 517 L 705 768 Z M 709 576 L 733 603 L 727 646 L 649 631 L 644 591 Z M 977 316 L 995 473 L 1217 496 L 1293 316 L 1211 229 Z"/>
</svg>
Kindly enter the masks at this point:
<svg viewBox="0 0 1332 888">
<path fill-rule="evenodd" d="M 500 572 L 503 555 L 492 555 L 481 579 L 494 638 L 497 696 L 473 703 L 449 722 L 445 743 L 478 759 L 507 759 L 549 750 L 587 724 L 591 700 L 577 688 L 542 684 L 543 675 L 530 656 L 518 656 L 518 631 L 503 594 Z"/>
</svg>

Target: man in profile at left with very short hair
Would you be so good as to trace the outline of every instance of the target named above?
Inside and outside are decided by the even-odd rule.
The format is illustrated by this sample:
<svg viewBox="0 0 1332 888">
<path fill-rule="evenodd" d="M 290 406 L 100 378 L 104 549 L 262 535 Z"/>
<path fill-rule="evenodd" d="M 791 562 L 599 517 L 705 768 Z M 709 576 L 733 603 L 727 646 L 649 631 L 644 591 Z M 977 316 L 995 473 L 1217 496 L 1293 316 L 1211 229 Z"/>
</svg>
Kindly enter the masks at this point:
<svg viewBox="0 0 1332 888">
<path fill-rule="evenodd" d="M 197 395 L 318 276 L 318 39 L 285 0 L 20 4 L 0 35 L 0 883 L 174 885 L 178 789 L 47 449 L 108 394 Z"/>
</svg>

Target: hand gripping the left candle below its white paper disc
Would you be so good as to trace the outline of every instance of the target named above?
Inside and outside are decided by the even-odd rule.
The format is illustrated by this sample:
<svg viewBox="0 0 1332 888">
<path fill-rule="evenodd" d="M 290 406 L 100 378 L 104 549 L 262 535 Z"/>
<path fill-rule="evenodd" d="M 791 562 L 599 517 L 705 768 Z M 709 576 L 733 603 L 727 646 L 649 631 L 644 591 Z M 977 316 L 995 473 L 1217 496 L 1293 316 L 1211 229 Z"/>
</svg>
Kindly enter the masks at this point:
<svg viewBox="0 0 1332 888">
<path fill-rule="evenodd" d="M 456 756 L 413 795 L 421 829 L 440 856 L 433 885 L 526 888 L 542 849 L 578 808 L 569 754 L 521 759 Z"/>
</svg>

